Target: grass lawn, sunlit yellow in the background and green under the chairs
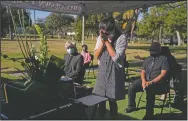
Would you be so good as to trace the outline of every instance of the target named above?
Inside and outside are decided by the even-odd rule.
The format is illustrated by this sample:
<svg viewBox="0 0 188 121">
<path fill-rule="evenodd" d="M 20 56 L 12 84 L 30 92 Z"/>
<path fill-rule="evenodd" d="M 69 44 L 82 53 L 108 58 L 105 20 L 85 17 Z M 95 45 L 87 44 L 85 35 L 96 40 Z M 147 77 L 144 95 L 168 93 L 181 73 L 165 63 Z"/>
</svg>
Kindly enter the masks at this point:
<svg viewBox="0 0 188 121">
<path fill-rule="evenodd" d="M 52 41 L 48 41 L 48 45 L 49 45 L 49 55 L 56 55 L 58 57 L 63 58 L 63 55 L 66 53 L 66 50 L 64 48 L 66 40 L 52 40 Z M 96 40 L 91 40 L 91 38 L 87 39 L 85 41 L 85 44 L 88 45 L 89 48 L 89 52 L 91 52 L 93 54 L 93 49 L 95 47 L 95 43 Z M 32 41 L 32 44 L 34 44 L 37 48 L 39 48 L 39 41 Z M 126 50 L 126 54 L 127 54 L 127 59 L 130 62 L 130 69 L 139 69 L 142 65 L 142 62 L 137 61 L 134 56 L 135 55 L 140 55 L 143 57 L 146 57 L 149 55 L 149 46 L 150 44 L 138 44 L 138 43 L 130 43 L 128 46 L 128 49 Z M 186 66 L 186 60 L 187 60 L 187 46 L 183 45 L 181 47 L 177 47 L 177 46 L 169 46 L 172 54 L 176 57 L 176 59 L 178 60 L 178 62 L 183 62 L 183 64 Z M 81 52 L 81 43 L 77 43 L 77 48 L 78 51 Z M 38 50 L 39 51 L 39 50 Z M 3 54 L 7 54 L 10 57 L 14 57 L 14 58 L 18 58 L 18 57 L 23 57 L 18 45 L 17 41 L 9 41 L 9 40 L 4 40 L 1 41 L 1 52 Z M 136 62 L 136 63 L 134 63 Z M 97 60 L 94 58 L 94 65 L 97 64 Z M 20 68 L 22 69 L 21 65 L 17 62 L 13 62 L 13 61 L 9 61 L 9 60 L 5 60 L 1 57 L 1 68 Z M 4 71 L 4 70 L 3 70 Z M 6 71 L 6 70 L 5 70 Z M 96 73 L 96 72 L 95 72 Z M 136 72 L 129 72 L 131 74 L 131 76 L 139 76 L 139 73 Z M 1 73 L 1 75 L 5 78 L 17 78 L 17 77 L 12 77 L 8 74 L 3 74 Z M 88 83 L 86 85 L 93 87 L 95 85 L 95 81 L 96 79 L 92 77 L 92 75 L 89 75 L 90 78 L 86 79 L 85 81 L 87 81 Z M 139 97 L 140 93 L 137 94 L 137 100 Z M 145 95 L 143 96 L 143 99 Z M 124 113 L 124 109 L 127 107 L 127 95 L 126 95 L 126 99 L 118 101 L 118 119 L 142 119 L 144 114 L 145 114 L 145 109 L 140 109 L 139 111 L 135 111 L 133 113 L 130 114 L 126 114 Z M 157 103 L 157 102 L 156 102 Z M 145 106 L 145 102 L 141 102 L 140 107 L 144 107 Z M 109 106 L 107 103 L 107 107 L 109 110 Z M 176 114 L 180 114 L 181 111 L 177 110 L 177 109 L 173 109 L 172 108 L 172 115 L 176 115 Z M 160 113 L 160 108 L 155 108 L 155 113 L 159 114 Z M 163 113 L 166 113 L 169 116 L 169 109 L 168 106 L 164 108 Z M 98 116 L 97 116 L 98 117 Z M 96 118 L 97 118 L 96 117 Z M 107 111 L 107 119 L 109 119 L 109 111 Z"/>
</svg>

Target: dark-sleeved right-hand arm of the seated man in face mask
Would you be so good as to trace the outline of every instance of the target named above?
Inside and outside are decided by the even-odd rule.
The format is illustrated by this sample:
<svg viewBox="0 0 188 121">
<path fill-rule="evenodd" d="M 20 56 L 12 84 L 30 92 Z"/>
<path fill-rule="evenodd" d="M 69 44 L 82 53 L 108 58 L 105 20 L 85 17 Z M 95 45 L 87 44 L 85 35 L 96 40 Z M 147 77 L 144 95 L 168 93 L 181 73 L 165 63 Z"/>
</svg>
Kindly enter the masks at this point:
<svg viewBox="0 0 188 121">
<path fill-rule="evenodd" d="M 70 78 L 79 76 L 83 68 L 83 63 L 84 63 L 84 59 L 82 56 L 80 56 L 80 58 L 77 60 L 76 70 L 73 71 L 72 73 L 68 73 L 66 76 Z"/>
</svg>

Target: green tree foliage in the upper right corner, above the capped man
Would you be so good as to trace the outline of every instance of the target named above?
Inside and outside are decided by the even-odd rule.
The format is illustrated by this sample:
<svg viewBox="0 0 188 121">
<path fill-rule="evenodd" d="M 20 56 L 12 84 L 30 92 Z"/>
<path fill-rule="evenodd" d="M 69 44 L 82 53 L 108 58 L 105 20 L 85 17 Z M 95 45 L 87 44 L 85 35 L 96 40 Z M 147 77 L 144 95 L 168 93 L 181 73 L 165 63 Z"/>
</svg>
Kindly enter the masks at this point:
<svg viewBox="0 0 188 121">
<path fill-rule="evenodd" d="M 186 2 L 176 2 L 152 7 L 143 19 L 137 23 L 137 35 L 150 39 L 160 40 L 162 37 L 176 35 L 180 32 L 182 38 L 187 36 L 187 9 Z M 161 32 L 160 32 L 161 30 Z"/>
</svg>

